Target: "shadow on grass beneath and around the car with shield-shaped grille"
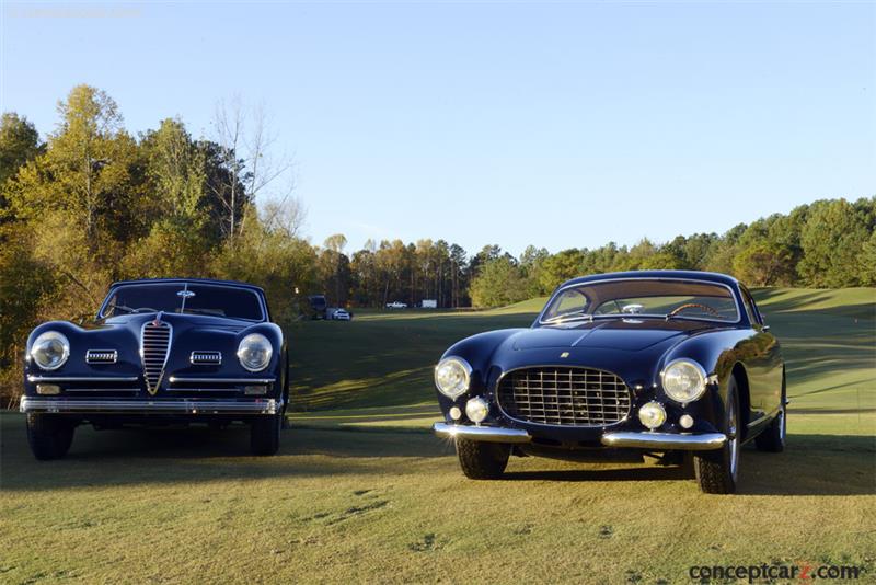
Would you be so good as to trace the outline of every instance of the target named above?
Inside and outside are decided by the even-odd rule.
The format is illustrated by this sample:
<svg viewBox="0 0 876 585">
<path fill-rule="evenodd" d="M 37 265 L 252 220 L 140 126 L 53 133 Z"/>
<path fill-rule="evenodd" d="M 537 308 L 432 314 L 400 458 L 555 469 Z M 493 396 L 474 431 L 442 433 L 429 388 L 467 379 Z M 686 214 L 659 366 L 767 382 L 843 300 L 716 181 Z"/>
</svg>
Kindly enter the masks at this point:
<svg viewBox="0 0 876 585">
<path fill-rule="evenodd" d="M 397 458 L 452 455 L 452 446 L 425 433 L 289 429 L 276 456 L 255 457 L 244 426 L 100 432 L 82 426 L 66 458 L 37 461 L 27 447 L 24 417 L 4 414 L 0 423 L 0 491 L 400 474 L 408 470 Z"/>
</svg>

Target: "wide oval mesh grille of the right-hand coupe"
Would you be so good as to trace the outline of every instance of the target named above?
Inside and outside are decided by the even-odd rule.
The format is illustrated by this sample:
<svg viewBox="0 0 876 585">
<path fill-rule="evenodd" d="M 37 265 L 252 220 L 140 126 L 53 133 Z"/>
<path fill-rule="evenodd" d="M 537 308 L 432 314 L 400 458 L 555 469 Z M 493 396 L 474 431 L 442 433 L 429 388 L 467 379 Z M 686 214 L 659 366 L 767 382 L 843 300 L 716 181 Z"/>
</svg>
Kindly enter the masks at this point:
<svg viewBox="0 0 876 585">
<path fill-rule="evenodd" d="M 618 376 L 598 369 L 518 369 L 499 382 L 498 401 L 520 421 L 557 426 L 604 426 L 622 421 L 630 389 Z"/>
</svg>

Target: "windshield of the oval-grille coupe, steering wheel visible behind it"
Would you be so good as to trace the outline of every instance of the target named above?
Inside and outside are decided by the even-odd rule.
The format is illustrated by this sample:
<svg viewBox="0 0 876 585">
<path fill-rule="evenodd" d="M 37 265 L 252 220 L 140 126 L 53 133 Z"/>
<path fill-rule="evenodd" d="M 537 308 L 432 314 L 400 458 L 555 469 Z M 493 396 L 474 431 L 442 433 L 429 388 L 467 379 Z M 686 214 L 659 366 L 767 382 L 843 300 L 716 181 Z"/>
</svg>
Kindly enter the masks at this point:
<svg viewBox="0 0 876 585">
<path fill-rule="evenodd" d="M 551 299 L 541 324 L 618 317 L 704 319 L 736 323 L 729 287 L 702 280 L 620 279 L 570 286 Z"/>
</svg>

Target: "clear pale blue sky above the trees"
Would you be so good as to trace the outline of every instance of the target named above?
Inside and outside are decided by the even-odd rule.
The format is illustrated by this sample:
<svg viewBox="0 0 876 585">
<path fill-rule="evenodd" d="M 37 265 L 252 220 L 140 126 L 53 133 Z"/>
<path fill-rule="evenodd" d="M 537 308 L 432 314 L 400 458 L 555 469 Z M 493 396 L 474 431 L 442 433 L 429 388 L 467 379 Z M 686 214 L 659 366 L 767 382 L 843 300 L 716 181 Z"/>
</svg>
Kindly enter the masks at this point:
<svg viewBox="0 0 876 585">
<path fill-rule="evenodd" d="M 5 3 L 2 108 L 263 104 L 314 243 L 552 252 L 876 194 L 876 3 Z M 269 197 L 270 195 L 266 195 Z"/>
</svg>

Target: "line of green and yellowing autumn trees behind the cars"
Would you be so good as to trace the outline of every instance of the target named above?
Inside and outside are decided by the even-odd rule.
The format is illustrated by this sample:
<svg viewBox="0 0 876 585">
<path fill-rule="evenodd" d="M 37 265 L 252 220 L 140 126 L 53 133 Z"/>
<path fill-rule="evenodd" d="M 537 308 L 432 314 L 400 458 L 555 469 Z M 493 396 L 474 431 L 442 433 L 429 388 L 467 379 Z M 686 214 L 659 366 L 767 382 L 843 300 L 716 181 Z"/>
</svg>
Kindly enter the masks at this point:
<svg viewBox="0 0 876 585">
<path fill-rule="evenodd" d="M 30 329 L 90 314 L 113 280 L 208 276 L 263 286 L 280 322 L 307 296 L 331 305 L 494 307 L 581 274 L 691 268 L 753 286 L 876 285 L 876 198 L 818 200 L 726 233 L 516 257 L 445 240 L 312 244 L 264 114 L 220 104 L 208 137 L 169 118 L 129 134 L 115 101 L 79 85 L 45 139 L 16 113 L 0 122 L 0 386 L 18 386 Z M 268 196 L 269 195 L 269 196 Z"/>
</svg>

